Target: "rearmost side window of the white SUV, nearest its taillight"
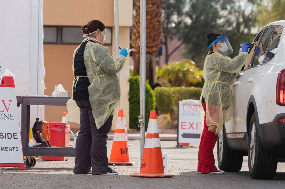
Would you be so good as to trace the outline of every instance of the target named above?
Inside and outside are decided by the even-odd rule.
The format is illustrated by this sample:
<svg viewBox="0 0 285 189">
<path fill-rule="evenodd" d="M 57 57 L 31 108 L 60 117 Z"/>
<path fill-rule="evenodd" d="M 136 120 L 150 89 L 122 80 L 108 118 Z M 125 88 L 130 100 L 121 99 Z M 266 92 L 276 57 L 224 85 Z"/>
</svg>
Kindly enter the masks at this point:
<svg viewBox="0 0 285 189">
<path fill-rule="evenodd" d="M 275 27 L 275 30 L 273 32 L 271 41 L 269 43 L 268 49 L 267 49 L 267 53 L 265 56 L 265 61 L 264 63 L 268 63 L 276 54 L 277 52 L 277 47 L 281 38 L 281 33 L 282 33 L 282 29 L 280 27 Z"/>
</svg>

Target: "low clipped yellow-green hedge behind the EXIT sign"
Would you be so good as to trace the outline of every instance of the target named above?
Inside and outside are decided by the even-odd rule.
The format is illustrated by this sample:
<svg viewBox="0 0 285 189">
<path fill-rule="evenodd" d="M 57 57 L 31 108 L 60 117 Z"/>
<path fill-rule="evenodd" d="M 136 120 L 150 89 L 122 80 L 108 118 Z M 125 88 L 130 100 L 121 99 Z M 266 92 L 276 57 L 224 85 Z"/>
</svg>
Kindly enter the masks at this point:
<svg viewBox="0 0 285 189">
<path fill-rule="evenodd" d="M 177 120 L 177 104 L 180 100 L 200 100 L 202 88 L 198 87 L 157 87 L 155 89 L 156 105 L 159 113 L 170 113 L 172 120 Z"/>
</svg>

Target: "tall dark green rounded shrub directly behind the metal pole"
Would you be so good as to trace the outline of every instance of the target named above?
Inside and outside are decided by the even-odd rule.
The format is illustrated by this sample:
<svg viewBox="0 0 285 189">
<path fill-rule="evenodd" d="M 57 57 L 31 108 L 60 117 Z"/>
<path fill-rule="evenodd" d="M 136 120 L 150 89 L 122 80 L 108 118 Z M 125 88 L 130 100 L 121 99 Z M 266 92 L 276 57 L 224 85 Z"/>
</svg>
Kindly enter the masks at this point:
<svg viewBox="0 0 285 189">
<path fill-rule="evenodd" d="M 130 76 L 130 91 L 129 91 L 129 113 L 130 113 L 130 128 L 138 129 L 138 116 L 140 115 L 140 77 Z M 149 113 L 155 108 L 155 96 L 152 88 L 146 82 L 145 86 L 145 129 L 149 120 Z"/>
</svg>

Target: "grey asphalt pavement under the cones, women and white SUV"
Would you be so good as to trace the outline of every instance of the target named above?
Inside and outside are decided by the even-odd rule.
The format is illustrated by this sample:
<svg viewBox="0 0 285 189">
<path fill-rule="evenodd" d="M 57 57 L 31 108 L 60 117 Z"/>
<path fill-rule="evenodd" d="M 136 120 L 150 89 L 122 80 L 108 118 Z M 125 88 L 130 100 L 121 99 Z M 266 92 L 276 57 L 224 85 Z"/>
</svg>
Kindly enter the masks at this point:
<svg viewBox="0 0 285 189">
<path fill-rule="evenodd" d="M 161 141 L 162 152 L 168 153 L 168 173 L 172 178 L 137 178 L 139 172 L 138 140 L 130 141 L 133 166 L 112 166 L 120 175 L 73 174 L 74 157 L 68 161 L 38 161 L 34 168 L 0 168 L 0 188 L 285 188 L 285 163 L 279 163 L 273 180 L 254 180 L 248 173 L 247 157 L 238 173 L 207 175 L 196 172 L 198 144 L 194 147 L 177 148 L 175 141 Z M 112 141 L 107 141 L 110 155 Z M 216 158 L 216 148 L 215 148 Z M 216 162 L 217 165 L 217 162 Z"/>
</svg>

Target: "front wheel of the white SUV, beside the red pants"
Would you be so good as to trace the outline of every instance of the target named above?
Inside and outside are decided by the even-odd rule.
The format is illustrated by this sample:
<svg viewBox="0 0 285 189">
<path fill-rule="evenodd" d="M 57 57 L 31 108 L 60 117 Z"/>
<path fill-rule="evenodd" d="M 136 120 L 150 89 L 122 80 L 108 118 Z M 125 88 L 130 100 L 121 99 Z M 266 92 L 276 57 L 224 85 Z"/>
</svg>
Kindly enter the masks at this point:
<svg viewBox="0 0 285 189">
<path fill-rule="evenodd" d="M 233 150 L 229 147 L 227 142 L 227 135 L 225 131 L 225 125 L 220 131 L 220 136 L 218 137 L 218 166 L 220 170 L 226 172 L 238 172 L 241 170 L 243 165 L 243 155 L 241 151 Z M 221 152 L 221 153 L 220 153 Z"/>
</svg>

